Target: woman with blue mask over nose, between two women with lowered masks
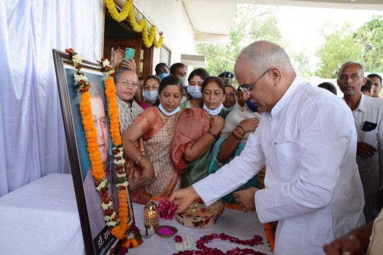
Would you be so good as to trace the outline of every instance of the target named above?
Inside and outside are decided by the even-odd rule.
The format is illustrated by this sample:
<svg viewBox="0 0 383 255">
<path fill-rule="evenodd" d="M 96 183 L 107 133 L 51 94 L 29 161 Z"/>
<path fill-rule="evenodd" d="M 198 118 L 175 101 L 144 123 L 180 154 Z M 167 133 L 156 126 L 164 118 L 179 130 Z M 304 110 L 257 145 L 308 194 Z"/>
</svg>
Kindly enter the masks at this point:
<svg viewBox="0 0 383 255">
<path fill-rule="evenodd" d="M 209 73 L 203 68 L 197 68 L 190 72 L 187 79 L 189 86 L 187 86 L 188 98 L 180 105 L 182 108 L 203 107 L 202 100 L 202 83 L 209 77 Z"/>
</svg>

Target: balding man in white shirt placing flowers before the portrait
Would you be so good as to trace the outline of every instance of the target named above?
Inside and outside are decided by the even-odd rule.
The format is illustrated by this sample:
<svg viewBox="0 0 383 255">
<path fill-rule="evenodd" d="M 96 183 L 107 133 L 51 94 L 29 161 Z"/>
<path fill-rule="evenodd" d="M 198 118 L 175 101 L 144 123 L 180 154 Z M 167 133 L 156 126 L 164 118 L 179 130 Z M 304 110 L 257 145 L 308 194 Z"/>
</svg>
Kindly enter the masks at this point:
<svg viewBox="0 0 383 255">
<path fill-rule="evenodd" d="M 171 200 L 207 205 L 240 187 L 266 163 L 265 189 L 235 193 L 261 222 L 278 220 L 276 254 L 318 254 L 322 243 L 364 223 L 355 162 L 356 131 L 341 98 L 296 78 L 278 45 L 258 41 L 238 56 L 235 77 L 262 112 L 242 154 Z"/>
</svg>

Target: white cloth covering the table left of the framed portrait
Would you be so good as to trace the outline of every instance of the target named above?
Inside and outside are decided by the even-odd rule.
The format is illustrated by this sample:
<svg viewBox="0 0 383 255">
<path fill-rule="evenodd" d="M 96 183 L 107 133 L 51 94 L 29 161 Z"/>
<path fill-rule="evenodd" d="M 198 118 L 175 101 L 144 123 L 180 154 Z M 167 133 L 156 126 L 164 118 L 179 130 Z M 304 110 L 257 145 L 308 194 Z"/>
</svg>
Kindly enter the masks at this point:
<svg viewBox="0 0 383 255">
<path fill-rule="evenodd" d="M 70 174 L 49 174 L 0 197 L 0 254 L 84 254 Z"/>
</svg>

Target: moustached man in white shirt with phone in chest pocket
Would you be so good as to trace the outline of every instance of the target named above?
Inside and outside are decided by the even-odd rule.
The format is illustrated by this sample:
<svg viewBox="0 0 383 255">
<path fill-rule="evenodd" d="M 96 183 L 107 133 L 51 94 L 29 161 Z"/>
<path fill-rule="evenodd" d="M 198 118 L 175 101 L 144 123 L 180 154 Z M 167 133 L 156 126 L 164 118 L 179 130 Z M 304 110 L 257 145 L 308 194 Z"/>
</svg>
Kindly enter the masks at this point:
<svg viewBox="0 0 383 255">
<path fill-rule="evenodd" d="M 379 169 L 383 170 L 383 101 L 366 96 L 364 68 L 356 62 L 344 63 L 338 72 L 338 85 L 352 111 L 357 132 L 356 163 L 361 175 L 366 205 L 366 221 L 375 218 Z"/>
</svg>

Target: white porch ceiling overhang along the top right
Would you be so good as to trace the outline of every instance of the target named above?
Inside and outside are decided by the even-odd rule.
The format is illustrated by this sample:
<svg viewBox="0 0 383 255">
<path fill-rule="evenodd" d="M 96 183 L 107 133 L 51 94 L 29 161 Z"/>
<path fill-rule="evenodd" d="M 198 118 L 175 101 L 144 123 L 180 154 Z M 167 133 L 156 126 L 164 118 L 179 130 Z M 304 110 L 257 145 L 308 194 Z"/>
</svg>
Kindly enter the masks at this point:
<svg viewBox="0 0 383 255">
<path fill-rule="evenodd" d="M 178 1 L 178 0 L 176 0 Z M 196 42 L 228 43 L 236 4 L 383 10 L 383 0 L 181 0 Z"/>
</svg>

